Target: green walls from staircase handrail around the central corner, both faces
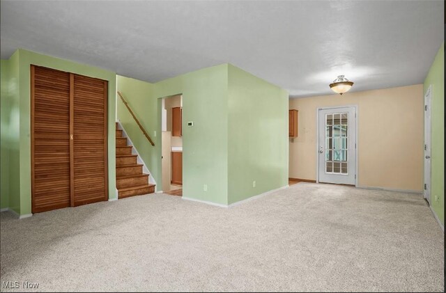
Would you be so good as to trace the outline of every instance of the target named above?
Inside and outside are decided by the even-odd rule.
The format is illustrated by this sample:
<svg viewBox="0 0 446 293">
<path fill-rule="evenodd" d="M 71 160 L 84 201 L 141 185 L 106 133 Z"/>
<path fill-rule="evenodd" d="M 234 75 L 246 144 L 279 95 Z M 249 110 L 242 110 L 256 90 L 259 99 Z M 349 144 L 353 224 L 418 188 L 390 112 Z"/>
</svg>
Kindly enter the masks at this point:
<svg viewBox="0 0 446 293">
<path fill-rule="evenodd" d="M 118 101 L 118 119 L 157 182 L 162 182 L 160 98 L 183 94 L 183 196 L 228 205 L 288 184 L 285 90 L 229 64 L 156 84 L 119 76 L 117 82 L 155 138 L 153 148 Z M 187 127 L 188 121 L 194 126 Z"/>
</svg>

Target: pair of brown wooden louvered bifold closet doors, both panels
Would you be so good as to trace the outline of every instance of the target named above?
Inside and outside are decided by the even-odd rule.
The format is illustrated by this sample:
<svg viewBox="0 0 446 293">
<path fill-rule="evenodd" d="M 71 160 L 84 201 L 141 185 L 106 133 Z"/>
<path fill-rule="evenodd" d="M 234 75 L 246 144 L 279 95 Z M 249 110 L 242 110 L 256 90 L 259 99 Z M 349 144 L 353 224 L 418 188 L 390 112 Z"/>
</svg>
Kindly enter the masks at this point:
<svg viewBox="0 0 446 293">
<path fill-rule="evenodd" d="M 31 65 L 31 210 L 107 200 L 107 81 Z"/>
</svg>

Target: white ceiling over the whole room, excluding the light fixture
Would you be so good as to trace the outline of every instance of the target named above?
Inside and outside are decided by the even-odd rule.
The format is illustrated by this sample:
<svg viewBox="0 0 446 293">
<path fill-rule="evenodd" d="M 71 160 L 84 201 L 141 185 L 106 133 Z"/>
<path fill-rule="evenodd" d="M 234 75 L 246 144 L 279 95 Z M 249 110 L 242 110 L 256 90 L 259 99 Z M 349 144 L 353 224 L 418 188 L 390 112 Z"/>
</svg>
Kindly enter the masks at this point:
<svg viewBox="0 0 446 293">
<path fill-rule="evenodd" d="M 17 48 L 155 82 L 221 63 L 291 97 L 420 84 L 444 38 L 443 1 L 1 1 Z"/>
</svg>

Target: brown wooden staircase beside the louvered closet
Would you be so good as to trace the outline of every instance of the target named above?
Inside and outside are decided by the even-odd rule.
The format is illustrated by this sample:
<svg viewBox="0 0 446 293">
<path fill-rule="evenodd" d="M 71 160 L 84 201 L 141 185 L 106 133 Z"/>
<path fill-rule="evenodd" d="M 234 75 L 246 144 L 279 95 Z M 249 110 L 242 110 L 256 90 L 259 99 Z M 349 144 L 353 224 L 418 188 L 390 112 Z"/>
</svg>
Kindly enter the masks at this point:
<svg viewBox="0 0 446 293">
<path fill-rule="evenodd" d="M 132 146 L 118 129 L 116 122 L 116 188 L 118 198 L 140 196 L 155 192 L 155 184 L 148 183 L 148 174 L 142 173 L 142 164 L 137 163 L 137 155 L 132 155 Z"/>
</svg>

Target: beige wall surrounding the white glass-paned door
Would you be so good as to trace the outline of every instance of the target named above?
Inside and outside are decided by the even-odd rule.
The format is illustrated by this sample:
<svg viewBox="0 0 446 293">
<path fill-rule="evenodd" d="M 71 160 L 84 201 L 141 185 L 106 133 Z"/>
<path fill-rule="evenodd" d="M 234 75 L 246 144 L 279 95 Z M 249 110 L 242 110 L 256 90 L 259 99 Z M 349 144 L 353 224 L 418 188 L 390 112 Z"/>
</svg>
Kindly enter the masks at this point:
<svg viewBox="0 0 446 293">
<path fill-rule="evenodd" d="M 423 104 L 422 84 L 290 100 L 299 112 L 289 177 L 316 180 L 316 109 L 357 105 L 358 186 L 422 191 Z"/>
</svg>

